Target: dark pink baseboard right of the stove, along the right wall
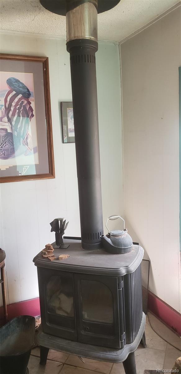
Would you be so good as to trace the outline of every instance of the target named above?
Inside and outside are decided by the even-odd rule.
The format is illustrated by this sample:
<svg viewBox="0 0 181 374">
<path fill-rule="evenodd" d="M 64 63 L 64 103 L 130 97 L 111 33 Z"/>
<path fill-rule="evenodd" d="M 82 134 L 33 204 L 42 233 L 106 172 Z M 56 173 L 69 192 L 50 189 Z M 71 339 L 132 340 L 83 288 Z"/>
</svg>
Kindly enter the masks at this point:
<svg viewBox="0 0 181 374">
<path fill-rule="evenodd" d="M 149 291 L 148 309 L 172 330 L 181 335 L 181 314 Z"/>
</svg>

